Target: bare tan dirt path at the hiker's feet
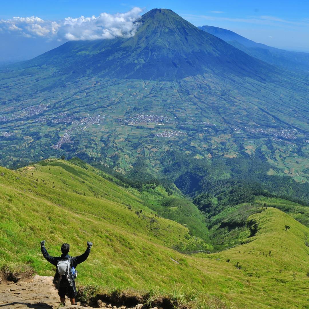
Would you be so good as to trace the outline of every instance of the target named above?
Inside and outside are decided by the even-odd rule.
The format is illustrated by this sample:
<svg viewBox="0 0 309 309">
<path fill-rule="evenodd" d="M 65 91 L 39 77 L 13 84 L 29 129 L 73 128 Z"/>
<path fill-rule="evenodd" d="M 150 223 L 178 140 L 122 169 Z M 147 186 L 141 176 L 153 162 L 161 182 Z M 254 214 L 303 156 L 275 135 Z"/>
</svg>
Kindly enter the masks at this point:
<svg viewBox="0 0 309 309">
<path fill-rule="evenodd" d="M 34 276 L 30 279 L 22 279 L 16 283 L 7 282 L 0 284 L 0 309 L 56 309 L 60 305 L 57 290 L 52 284 L 53 277 Z M 113 308 L 112 306 L 97 307 Z M 131 309 L 139 309 L 137 305 Z M 119 309 L 125 309 L 125 306 Z M 155 307 L 156 308 L 156 307 Z M 153 309 L 155 309 L 153 308 Z M 93 307 L 72 306 L 70 300 L 66 299 L 63 309 L 93 309 Z M 128 308 L 129 309 L 129 308 Z"/>
</svg>

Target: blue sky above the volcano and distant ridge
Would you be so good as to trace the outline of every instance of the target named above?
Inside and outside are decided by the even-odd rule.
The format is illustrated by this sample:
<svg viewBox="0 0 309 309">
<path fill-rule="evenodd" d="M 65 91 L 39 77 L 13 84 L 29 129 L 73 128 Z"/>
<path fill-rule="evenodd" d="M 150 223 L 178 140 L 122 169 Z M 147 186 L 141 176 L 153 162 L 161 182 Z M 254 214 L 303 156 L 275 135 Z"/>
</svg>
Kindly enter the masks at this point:
<svg viewBox="0 0 309 309">
<path fill-rule="evenodd" d="M 196 26 L 211 25 L 226 28 L 259 43 L 282 49 L 309 52 L 308 0 L 136 0 L 133 2 L 126 0 L 4 0 L 1 3 L 0 11 L 0 20 L 2 19 L 2 23 L 0 23 L 0 29 L 2 29 L 0 30 L 0 62 L 1 60 L 13 60 L 13 58 L 24 59 L 33 57 L 62 44 L 67 38 L 75 40 L 82 37 L 82 39 L 87 39 L 87 37 L 79 35 L 76 24 L 72 25 L 72 23 L 78 23 L 75 18 L 80 16 L 99 16 L 103 12 L 109 13 L 112 16 L 116 13 L 128 12 L 133 7 L 139 7 L 141 10 L 140 12 L 131 12 L 125 17 L 127 18 L 125 29 L 130 27 L 130 20 L 136 14 L 142 14 L 152 8 L 169 8 Z M 29 29 L 29 21 L 28 23 L 22 19 L 19 19 L 19 23 L 15 23 L 16 19 L 12 21 L 13 17 L 31 16 L 39 17 L 44 21 L 44 23 L 40 21 L 39 26 L 46 25 L 48 30 L 45 30 L 49 33 L 48 36 L 45 36 L 43 28 L 39 29 L 40 31 L 42 30 L 39 36 L 35 35 L 34 29 Z M 63 20 L 67 17 L 72 18 L 70 20 L 70 36 L 67 33 L 66 35 L 62 33 L 69 31 L 67 26 L 64 30 L 62 27 Z M 56 29 L 53 29 L 52 22 L 56 23 Z M 104 23 L 106 22 L 107 20 L 104 19 Z M 88 20 L 88 24 L 90 23 L 92 22 Z M 115 20 L 113 20 L 113 25 L 115 25 Z M 121 27 L 123 32 L 124 26 L 122 25 Z M 36 30 L 38 29 L 36 28 Z M 130 30 L 132 29 L 125 31 Z M 52 31 L 57 32 L 57 35 L 51 36 Z M 62 33 L 61 37 L 59 33 Z M 97 34 L 92 33 L 92 35 Z M 110 33 L 109 30 L 106 35 L 106 37 L 108 35 L 112 37 L 115 33 Z"/>
</svg>

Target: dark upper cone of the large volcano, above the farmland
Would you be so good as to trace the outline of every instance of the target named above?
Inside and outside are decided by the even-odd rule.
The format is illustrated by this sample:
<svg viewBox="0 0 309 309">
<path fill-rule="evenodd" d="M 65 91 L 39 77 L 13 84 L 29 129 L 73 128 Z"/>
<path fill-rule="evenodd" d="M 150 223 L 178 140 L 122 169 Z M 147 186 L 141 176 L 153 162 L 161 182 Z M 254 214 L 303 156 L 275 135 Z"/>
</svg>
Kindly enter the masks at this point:
<svg viewBox="0 0 309 309">
<path fill-rule="evenodd" d="M 53 65 L 61 75 L 175 80 L 215 71 L 257 79 L 273 72 L 167 9 L 153 9 L 127 39 L 68 42 L 22 66 Z M 259 71 L 259 73 L 257 73 Z"/>
</svg>

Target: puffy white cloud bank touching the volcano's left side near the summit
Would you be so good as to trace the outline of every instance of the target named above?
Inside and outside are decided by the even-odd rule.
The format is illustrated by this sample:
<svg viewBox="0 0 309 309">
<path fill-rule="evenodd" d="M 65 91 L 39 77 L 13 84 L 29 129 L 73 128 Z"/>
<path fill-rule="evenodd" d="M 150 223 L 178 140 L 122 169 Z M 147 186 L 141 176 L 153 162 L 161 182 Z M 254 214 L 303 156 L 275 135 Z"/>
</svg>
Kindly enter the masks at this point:
<svg viewBox="0 0 309 309">
<path fill-rule="evenodd" d="M 97 40 L 133 36 L 143 10 L 134 7 L 126 13 L 101 13 L 91 17 L 67 17 L 60 21 L 43 20 L 39 17 L 13 17 L 1 19 L 3 31 L 18 33 L 24 37 L 41 37 L 62 40 Z"/>
</svg>

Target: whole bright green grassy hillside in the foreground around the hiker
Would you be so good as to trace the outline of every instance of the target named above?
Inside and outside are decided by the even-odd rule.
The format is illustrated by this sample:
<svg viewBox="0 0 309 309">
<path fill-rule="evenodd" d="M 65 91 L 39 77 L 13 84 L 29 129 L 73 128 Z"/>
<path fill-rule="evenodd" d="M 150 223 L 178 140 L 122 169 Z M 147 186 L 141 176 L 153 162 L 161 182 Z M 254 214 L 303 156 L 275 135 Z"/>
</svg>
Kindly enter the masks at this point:
<svg viewBox="0 0 309 309">
<path fill-rule="evenodd" d="M 182 255 L 169 247 L 202 240 L 155 216 L 138 191 L 86 167 L 50 160 L 19 171 L 0 168 L 2 270 L 53 275 L 40 240 L 46 239 L 52 255 L 65 241 L 78 255 L 90 240 L 91 255 L 78 266 L 79 285 L 134 289 L 150 292 L 150 298 L 169 295 L 193 308 L 217 308 L 216 303 L 218 308 L 308 308 L 309 229 L 291 216 L 271 207 L 260 210 L 248 218 L 257 226 L 251 242 L 214 254 Z"/>
</svg>

